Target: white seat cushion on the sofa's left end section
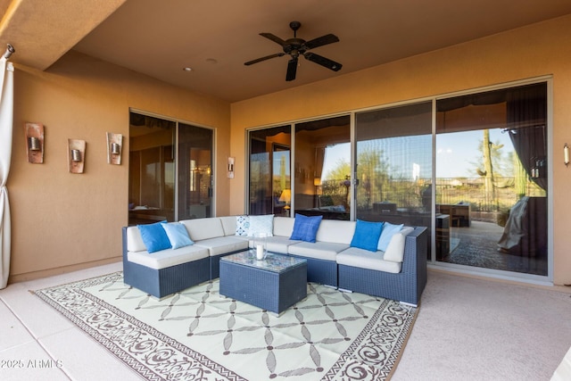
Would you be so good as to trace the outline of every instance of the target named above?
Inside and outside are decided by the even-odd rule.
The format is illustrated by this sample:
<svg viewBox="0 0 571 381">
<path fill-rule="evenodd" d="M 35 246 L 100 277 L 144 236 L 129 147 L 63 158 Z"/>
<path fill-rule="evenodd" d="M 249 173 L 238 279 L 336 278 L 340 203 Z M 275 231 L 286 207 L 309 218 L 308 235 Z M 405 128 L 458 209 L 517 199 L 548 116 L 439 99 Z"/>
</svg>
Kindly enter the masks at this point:
<svg viewBox="0 0 571 381">
<path fill-rule="evenodd" d="M 127 260 L 151 269 L 166 269 L 189 261 L 208 258 L 208 249 L 196 245 L 180 249 L 166 249 L 160 252 L 128 252 Z"/>
</svg>

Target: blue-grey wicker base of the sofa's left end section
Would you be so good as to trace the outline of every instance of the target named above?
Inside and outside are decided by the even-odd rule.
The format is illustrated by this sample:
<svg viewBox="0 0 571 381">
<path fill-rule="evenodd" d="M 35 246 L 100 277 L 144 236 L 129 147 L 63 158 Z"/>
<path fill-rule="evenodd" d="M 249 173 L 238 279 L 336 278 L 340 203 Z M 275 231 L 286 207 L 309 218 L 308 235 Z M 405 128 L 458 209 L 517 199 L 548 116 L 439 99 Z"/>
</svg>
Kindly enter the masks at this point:
<svg viewBox="0 0 571 381">
<path fill-rule="evenodd" d="M 123 278 L 133 286 L 157 298 L 178 293 L 188 287 L 210 280 L 211 260 L 203 258 L 165 269 L 151 269 L 138 263 L 123 260 Z"/>
</svg>

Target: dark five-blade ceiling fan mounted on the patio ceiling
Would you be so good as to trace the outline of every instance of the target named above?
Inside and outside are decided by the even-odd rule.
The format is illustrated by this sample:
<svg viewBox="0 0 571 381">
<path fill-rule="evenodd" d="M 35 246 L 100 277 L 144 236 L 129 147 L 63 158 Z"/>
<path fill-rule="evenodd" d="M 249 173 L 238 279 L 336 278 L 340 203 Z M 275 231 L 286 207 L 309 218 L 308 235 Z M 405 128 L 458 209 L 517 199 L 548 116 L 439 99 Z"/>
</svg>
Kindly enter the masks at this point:
<svg viewBox="0 0 571 381">
<path fill-rule="evenodd" d="M 339 38 L 336 37 L 335 35 L 328 34 L 325 36 L 314 38 L 310 41 L 305 41 L 304 39 L 297 37 L 297 29 L 300 29 L 301 26 L 302 23 L 299 21 L 290 22 L 289 27 L 294 30 L 294 38 L 288 38 L 286 40 L 283 40 L 280 37 L 277 37 L 271 33 L 260 33 L 260 36 L 266 37 L 274 41 L 275 43 L 279 44 L 280 46 L 282 46 L 284 52 L 269 54 L 266 55 L 265 57 L 261 57 L 256 60 L 244 62 L 244 65 L 249 66 L 252 65 L 253 63 L 258 63 L 269 60 L 270 58 L 282 57 L 285 54 L 289 54 L 291 58 L 287 63 L 287 72 L 285 74 L 285 80 L 295 79 L 295 72 L 297 71 L 297 60 L 300 55 L 305 57 L 306 60 L 315 62 L 323 67 L 326 67 L 329 70 L 334 70 L 334 71 L 341 70 L 341 67 L 343 66 L 341 63 L 329 60 L 328 58 L 323 57 L 319 54 L 309 52 L 310 49 L 338 42 Z"/>
</svg>

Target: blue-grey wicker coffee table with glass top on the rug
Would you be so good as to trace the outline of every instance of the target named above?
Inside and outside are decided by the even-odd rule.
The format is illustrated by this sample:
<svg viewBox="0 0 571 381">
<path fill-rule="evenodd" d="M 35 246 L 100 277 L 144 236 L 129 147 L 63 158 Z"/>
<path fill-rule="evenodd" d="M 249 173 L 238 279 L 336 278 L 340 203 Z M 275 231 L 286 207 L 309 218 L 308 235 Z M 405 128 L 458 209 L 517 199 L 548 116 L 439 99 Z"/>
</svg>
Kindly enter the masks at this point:
<svg viewBox="0 0 571 381">
<path fill-rule="evenodd" d="M 257 261 L 244 251 L 220 259 L 220 295 L 276 314 L 307 296 L 307 261 L 268 253 Z"/>
</svg>

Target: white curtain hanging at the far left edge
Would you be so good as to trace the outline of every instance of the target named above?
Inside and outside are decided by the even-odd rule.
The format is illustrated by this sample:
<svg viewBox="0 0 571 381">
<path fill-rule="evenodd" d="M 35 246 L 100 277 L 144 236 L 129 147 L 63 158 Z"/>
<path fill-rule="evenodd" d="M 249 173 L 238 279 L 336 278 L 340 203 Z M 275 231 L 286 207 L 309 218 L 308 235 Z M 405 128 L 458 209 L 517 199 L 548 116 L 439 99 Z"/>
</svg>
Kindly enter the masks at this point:
<svg viewBox="0 0 571 381">
<path fill-rule="evenodd" d="M 5 56 L 0 59 L 0 289 L 10 275 L 10 204 L 6 181 L 12 157 L 13 71 Z"/>
</svg>

